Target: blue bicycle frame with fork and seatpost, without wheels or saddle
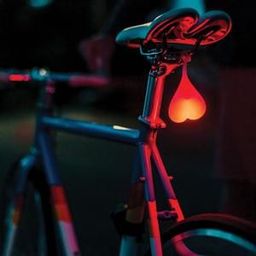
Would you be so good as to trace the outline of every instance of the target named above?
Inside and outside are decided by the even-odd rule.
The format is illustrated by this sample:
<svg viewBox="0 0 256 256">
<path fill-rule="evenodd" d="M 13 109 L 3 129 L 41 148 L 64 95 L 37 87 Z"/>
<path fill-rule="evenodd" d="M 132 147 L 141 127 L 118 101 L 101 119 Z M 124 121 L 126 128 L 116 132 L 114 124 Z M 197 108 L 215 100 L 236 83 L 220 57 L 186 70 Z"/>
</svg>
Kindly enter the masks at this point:
<svg viewBox="0 0 256 256">
<path fill-rule="evenodd" d="M 182 56 L 183 57 L 183 56 Z M 161 256 L 160 227 L 158 218 L 183 219 L 183 212 L 179 207 L 176 195 L 172 189 L 172 177 L 166 172 L 166 167 L 160 157 L 156 145 L 158 130 L 165 128 L 160 119 L 160 107 L 166 76 L 172 70 L 183 64 L 179 58 L 173 63 L 159 62 L 152 65 L 148 74 L 148 84 L 143 107 L 143 114 L 139 117 L 141 129 L 130 129 L 115 125 L 101 125 L 80 120 L 56 117 L 53 113 L 53 95 L 55 84 L 50 79 L 43 79 L 41 96 L 38 104 L 36 131 L 31 153 L 20 164 L 20 177 L 17 184 L 17 199 L 13 209 L 13 226 L 9 229 L 9 239 L 6 243 L 4 255 L 9 255 L 15 240 L 16 226 L 19 223 L 20 212 L 24 201 L 26 177 L 38 162 L 44 164 L 46 177 L 55 218 L 58 223 L 61 243 L 66 255 L 79 255 L 79 246 L 73 229 L 72 218 L 67 205 L 67 199 L 59 177 L 59 168 L 55 158 L 55 145 L 52 131 L 63 131 L 85 137 L 96 137 L 118 143 L 132 144 L 137 147 L 137 165 L 133 168 L 131 191 L 125 214 L 125 221 L 131 224 L 142 224 L 145 210 L 148 212 L 148 230 L 152 255 Z M 46 84 L 46 86 L 45 86 Z M 160 182 L 166 191 L 166 201 L 169 209 L 157 212 L 154 194 L 152 162 L 160 176 Z M 136 255 L 137 237 L 122 234 L 120 256 Z"/>
</svg>

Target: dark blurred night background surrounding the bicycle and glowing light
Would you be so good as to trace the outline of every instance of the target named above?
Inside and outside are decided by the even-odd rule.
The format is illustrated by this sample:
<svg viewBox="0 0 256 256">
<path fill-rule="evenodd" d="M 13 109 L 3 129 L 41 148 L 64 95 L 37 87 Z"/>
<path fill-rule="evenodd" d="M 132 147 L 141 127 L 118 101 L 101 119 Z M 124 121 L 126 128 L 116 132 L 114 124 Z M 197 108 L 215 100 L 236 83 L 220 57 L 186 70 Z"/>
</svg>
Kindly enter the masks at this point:
<svg viewBox="0 0 256 256">
<path fill-rule="evenodd" d="M 111 82 L 101 89 L 57 84 L 56 111 L 70 118 L 138 127 L 149 66 L 137 50 L 115 45 L 113 38 L 125 26 L 152 20 L 181 2 L 186 4 L 0 0 L 0 69 L 89 73 L 97 67 L 86 59 L 88 42 L 102 40 L 101 54 L 107 55 L 108 63 L 100 72 L 109 73 Z M 198 3 L 201 12 L 227 12 L 233 28 L 227 38 L 202 49 L 189 63 L 189 78 L 207 102 L 202 119 L 175 124 L 168 118 L 181 70 L 167 79 L 161 112 L 167 127 L 160 131 L 160 152 L 175 177 L 173 185 L 186 216 L 231 212 L 255 220 L 256 18 L 246 2 Z M 11 163 L 32 143 L 37 96 L 35 86 L 0 83 L 0 188 Z M 66 134 L 58 135 L 57 142 L 82 253 L 116 254 L 119 237 L 109 215 L 127 196 L 135 148 Z"/>
</svg>

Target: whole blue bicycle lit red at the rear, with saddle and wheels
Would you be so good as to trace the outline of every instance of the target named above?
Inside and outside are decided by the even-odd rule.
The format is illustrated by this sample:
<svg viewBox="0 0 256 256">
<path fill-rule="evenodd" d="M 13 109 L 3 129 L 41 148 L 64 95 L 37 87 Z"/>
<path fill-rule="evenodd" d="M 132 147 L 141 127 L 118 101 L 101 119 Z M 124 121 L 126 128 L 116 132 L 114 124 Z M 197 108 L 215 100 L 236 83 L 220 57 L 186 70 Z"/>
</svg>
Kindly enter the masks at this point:
<svg viewBox="0 0 256 256">
<path fill-rule="evenodd" d="M 30 244 L 35 243 L 34 247 L 38 251 L 32 247 L 31 254 L 57 255 L 62 248 L 61 252 L 65 255 L 80 255 L 57 169 L 53 131 L 107 139 L 137 147 L 137 165 L 132 172 L 129 201 L 113 212 L 112 216 L 122 237 L 119 255 L 137 255 L 140 243 L 146 240 L 145 212 L 148 216 L 150 248 L 140 255 L 256 255 L 256 227 L 246 220 L 219 213 L 183 217 L 172 188 L 172 177 L 167 174 L 156 146 L 158 131 L 166 127 L 160 119 L 166 76 L 175 68 L 186 65 L 201 45 L 218 42 L 230 29 L 230 16 L 224 12 L 207 12 L 199 19 L 194 9 L 177 9 L 160 15 L 148 24 L 129 27 L 119 33 L 116 38 L 119 44 L 140 49 L 151 64 L 143 113 L 139 117 L 140 129 L 57 117 L 53 111 L 55 77 L 50 73 L 39 73 L 36 77 L 32 77 L 31 73 L 20 74 L 38 81 L 41 96 L 31 152 L 18 160 L 9 173 L 10 214 L 6 218 L 8 229 L 5 230 L 7 235 L 3 255 L 11 255 L 12 250 L 20 246 L 17 241 L 20 237 L 16 237 L 17 227 L 20 226 L 20 214 L 25 201 L 29 199 L 26 196 L 28 192 L 32 192 L 38 211 L 38 230 L 33 241 L 29 241 Z M 168 209 L 161 212 L 158 212 L 155 199 L 152 163 L 166 192 Z M 30 190 L 27 189 L 27 183 L 31 185 Z M 162 235 L 160 219 L 174 222 Z M 59 232 L 58 238 L 55 236 L 55 224 Z M 29 254 L 26 252 L 26 255 Z"/>
</svg>

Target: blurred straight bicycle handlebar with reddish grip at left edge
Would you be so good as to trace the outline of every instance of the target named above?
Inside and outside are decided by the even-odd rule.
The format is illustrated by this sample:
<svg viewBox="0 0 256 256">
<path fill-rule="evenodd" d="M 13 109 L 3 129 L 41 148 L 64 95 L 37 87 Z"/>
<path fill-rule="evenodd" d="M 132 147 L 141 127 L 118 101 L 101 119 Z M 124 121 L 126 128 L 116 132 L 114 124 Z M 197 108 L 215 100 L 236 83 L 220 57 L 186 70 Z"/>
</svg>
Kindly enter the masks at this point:
<svg viewBox="0 0 256 256">
<path fill-rule="evenodd" d="M 51 73 L 43 68 L 29 71 L 0 69 L 0 82 L 29 81 L 66 82 L 71 87 L 102 87 L 109 83 L 109 78 L 99 74 Z"/>
</svg>

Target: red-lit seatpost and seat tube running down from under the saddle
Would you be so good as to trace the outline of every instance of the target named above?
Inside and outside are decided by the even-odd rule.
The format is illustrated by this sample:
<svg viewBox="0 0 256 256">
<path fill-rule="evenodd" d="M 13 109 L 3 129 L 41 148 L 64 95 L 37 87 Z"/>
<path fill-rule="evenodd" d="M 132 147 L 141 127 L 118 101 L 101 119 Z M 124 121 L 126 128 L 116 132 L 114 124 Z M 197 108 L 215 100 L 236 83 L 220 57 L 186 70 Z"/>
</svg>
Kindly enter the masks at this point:
<svg viewBox="0 0 256 256">
<path fill-rule="evenodd" d="M 149 240 L 151 253 L 154 256 L 162 256 L 163 252 L 160 239 L 157 203 L 154 194 L 151 158 L 156 142 L 157 132 L 160 128 L 166 127 L 166 124 L 160 119 L 160 108 L 166 76 L 171 73 L 172 69 L 175 67 L 177 67 L 177 65 L 167 65 L 165 63 L 158 63 L 158 66 L 152 66 L 148 75 L 143 114 L 139 118 L 145 127 L 139 149 L 148 210 Z"/>
</svg>

